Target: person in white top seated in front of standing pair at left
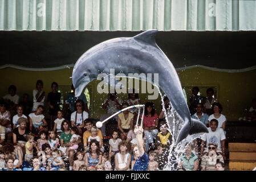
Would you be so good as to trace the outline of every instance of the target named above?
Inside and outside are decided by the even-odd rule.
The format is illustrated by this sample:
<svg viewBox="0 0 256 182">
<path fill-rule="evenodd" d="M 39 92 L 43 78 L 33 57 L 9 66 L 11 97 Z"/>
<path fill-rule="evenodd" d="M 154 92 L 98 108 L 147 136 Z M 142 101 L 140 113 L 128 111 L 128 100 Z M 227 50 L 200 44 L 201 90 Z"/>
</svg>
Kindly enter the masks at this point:
<svg viewBox="0 0 256 182">
<path fill-rule="evenodd" d="M 29 114 L 30 131 L 32 131 L 33 134 L 37 135 L 40 131 L 47 131 L 47 122 L 44 119 L 43 110 L 44 107 L 39 105 L 35 113 Z"/>
</svg>

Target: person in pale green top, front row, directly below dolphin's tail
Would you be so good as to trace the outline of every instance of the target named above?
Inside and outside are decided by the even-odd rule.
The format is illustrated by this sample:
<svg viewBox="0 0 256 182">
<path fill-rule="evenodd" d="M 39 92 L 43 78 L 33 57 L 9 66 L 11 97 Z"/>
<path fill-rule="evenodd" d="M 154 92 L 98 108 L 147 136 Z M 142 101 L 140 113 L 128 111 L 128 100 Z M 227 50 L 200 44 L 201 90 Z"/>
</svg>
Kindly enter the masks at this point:
<svg viewBox="0 0 256 182">
<path fill-rule="evenodd" d="M 199 166 L 198 157 L 192 152 L 193 144 L 188 143 L 185 147 L 185 153 L 180 155 L 179 168 L 185 168 L 186 171 L 197 171 Z"/>
</svg>

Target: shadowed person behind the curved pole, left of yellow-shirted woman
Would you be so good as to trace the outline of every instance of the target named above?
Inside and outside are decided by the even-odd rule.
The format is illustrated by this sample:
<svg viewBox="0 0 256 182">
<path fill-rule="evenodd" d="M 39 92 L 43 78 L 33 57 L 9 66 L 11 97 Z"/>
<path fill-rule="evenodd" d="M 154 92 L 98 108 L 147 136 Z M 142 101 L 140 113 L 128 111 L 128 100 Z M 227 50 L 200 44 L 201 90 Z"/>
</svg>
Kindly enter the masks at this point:
<svg viewBox="0 0 256 182">
<path fill-rule="evenodd" d="M 112 91 L 112 90 L 111 90 Z M 119 110 L 121 110 L 121 103 L 122 100 L 121 98 L 117 97 L 117 93 L 109 93 L 108 98 L 103 102 L 104 104 L 102 105 L 102 109 L 107 109 L 107 114 L 104 114 L 100 117 L 100 121 L 104 121 L 104 119 L 107 119 L 110 117 L 112 114 L 115 114 Z M 112 118 L 117 122 L 117 115 Z M 108 121 L 107 121 L 108 122 Z M 105 125 L 107 122 L 104 122 L 102 127 L 100 128 L 103 136 L 105 136 Z"/>
</svg>

